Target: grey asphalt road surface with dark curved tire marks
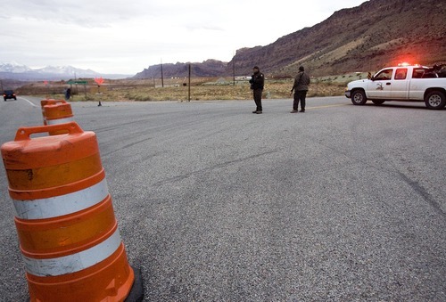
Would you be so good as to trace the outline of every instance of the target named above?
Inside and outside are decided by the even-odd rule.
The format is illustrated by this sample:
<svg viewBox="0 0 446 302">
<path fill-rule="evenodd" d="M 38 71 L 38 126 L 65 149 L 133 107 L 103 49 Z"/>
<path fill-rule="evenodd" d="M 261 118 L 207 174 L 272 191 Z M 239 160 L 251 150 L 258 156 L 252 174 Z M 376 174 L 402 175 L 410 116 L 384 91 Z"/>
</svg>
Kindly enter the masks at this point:
<svg viewBox="0 0 446 302">
<path fill-rule="evenodd" d="M 146 301 L 446 301 L 446 110 L 307 102 L 71 103 Z M 12 141 L 39 99 L 0 117 Z M 0 184 L 0 300 L 27 301 Z"/>
</svg>

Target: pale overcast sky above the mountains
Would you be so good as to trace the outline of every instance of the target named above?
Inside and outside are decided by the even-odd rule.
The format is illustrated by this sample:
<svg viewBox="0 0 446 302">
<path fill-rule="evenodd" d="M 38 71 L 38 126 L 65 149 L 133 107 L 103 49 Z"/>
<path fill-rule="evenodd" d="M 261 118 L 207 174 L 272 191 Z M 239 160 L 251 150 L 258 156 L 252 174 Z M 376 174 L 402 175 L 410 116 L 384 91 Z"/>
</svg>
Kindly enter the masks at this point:
<svg viewBox="0 0 446 302">
<path fill-rule="evenodd" d="M 150 65 L 230 61 L 366 0 L 6 0 L 0 63 L 133 75 Z"/>
</svg>

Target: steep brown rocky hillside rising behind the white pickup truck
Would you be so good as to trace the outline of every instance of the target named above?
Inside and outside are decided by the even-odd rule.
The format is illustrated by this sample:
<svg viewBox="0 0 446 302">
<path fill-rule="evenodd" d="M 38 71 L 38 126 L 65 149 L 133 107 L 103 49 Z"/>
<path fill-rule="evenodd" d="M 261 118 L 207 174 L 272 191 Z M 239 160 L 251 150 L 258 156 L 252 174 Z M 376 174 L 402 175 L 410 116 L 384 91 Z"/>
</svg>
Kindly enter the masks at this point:
<svg viewBox="0 0 446 302">
<path fill-rule="evenodd" d="M 268 75 L 293 75 L 302 64 L 322 76 L 401 61 L 446 62 L 445 15 L 444 1 L 370 0 L 270 45 L 239 50 L 226 73 L 233 63 L 235 74 L 259 65 Z"/>
</svg>

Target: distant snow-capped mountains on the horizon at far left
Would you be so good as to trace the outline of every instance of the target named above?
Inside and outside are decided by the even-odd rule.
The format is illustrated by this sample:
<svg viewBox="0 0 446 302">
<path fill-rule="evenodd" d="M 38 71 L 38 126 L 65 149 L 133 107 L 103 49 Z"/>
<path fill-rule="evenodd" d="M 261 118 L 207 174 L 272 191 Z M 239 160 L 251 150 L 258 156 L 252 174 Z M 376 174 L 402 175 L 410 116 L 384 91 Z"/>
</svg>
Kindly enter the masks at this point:
<svg viewBox="0 0 446 302">
<path fill-rule="evenodd" d="M 31 69 L 15 62 L 0 63 L 0 78 L 29 80 L 66 80 L 70 78 L 128 78 L 128 75 L 104 75 L 92 69 L 77 69 L 72 66 L 46 66 Z"/>
</svg>

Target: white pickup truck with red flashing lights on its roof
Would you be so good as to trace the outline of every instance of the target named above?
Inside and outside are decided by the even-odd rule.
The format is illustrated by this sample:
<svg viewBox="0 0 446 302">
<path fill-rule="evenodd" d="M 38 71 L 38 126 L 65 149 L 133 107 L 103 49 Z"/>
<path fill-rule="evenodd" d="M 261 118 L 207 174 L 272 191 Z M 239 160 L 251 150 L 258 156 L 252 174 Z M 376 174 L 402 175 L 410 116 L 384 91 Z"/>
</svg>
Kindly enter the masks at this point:
<svg viewBox="0 0 446 302">
<path fill-rule="evenodd" d="M 440 110 L 446 105 L 446 78 L 444 69 L 420 65 L 388 67 L 379 70 L 370 79 L 352 81 L 345 96 L 354 105 L 368 100 L 376 105 L 385 101 L 425 102 L 428 109 Z"/>
</svg>

